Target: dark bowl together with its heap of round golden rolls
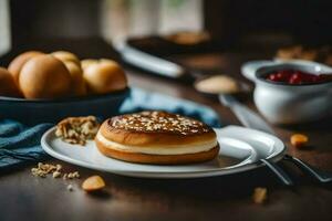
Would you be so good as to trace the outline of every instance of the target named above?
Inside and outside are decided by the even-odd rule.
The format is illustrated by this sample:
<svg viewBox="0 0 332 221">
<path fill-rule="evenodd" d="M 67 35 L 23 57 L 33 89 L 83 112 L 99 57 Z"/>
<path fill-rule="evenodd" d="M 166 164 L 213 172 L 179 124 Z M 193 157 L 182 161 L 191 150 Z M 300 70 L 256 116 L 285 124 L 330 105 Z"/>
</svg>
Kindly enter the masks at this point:
<svg viewBox="0 0 332 221">
<path fill-rule="evenodd" d="M 25 124 L 108 117 L 118 114 L 128 94 L 124 70 L 108 59 L 80 61 L 66 51 L 28 51 L 0 67 L 0 118 Z"/>
</svg>

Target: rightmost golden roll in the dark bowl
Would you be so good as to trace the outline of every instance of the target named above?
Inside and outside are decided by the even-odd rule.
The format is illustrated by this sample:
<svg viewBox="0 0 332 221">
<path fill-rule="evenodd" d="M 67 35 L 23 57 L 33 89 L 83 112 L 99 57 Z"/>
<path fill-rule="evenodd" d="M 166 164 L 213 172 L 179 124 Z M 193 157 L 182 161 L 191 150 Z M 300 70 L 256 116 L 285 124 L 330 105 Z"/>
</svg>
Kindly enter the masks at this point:
<svg viewBox="0 0 332 221">
<path fill-rule="evenodd" d="M 87 91 L 93 94 L 105 94 L 121 91 L 127 86 L 127 78 L 118 63 L 111 60 L 89 60 L 83 67 L 83 77 Z"/>
</svg>

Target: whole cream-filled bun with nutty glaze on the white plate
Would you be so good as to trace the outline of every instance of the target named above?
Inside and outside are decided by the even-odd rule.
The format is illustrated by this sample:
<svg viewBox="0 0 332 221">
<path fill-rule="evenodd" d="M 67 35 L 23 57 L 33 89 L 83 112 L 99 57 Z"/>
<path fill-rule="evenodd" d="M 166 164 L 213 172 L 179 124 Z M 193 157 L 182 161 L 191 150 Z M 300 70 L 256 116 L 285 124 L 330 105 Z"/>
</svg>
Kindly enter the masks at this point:
<svg viewBox="0 0 332 221">
<path fill-rule="evenodd" d="M 105 120 L 96 137 L 98 150 L 129 162 L 183 165 L 214 159 L 216 133 L 206 124 L 166 112 L 142 112 Z"/>
</svg>

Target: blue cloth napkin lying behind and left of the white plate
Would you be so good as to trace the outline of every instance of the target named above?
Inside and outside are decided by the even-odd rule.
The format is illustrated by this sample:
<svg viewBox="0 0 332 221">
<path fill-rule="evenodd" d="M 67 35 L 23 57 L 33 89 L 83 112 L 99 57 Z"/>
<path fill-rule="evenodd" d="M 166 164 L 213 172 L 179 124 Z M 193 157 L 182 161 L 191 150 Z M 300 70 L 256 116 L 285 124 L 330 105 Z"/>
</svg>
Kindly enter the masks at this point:
<svg viewBox="0 0 332 221">
<path fill-rule="evenodd" d="M 220 127 L 218 115 L 209 107 L 186 99 L 170 97 L 141 88 L 132 88 L 121 107 L 121 113 L 134 113 L 144 109 L 163 109 L 186 115 L 212 127 Z M 19 122 L 0 119 L 0 168 L 35 161 L 45 157 L 40 139 L 52 124 L 39 124 L 27 127 Z"/>
</svg>

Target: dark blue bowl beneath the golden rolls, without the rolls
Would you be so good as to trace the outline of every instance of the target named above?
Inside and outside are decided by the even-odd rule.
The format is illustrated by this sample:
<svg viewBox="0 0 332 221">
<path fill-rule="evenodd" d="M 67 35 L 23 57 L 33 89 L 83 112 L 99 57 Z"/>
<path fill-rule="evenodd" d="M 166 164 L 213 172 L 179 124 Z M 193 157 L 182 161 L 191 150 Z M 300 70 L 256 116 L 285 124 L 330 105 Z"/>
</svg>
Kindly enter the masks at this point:
<svg viewBox="0 0 332 221">
<path fill-rule="evenodd" d="M 0 119 L 17 119 L 23 124 L 58 123 L 69 116 L 94 115 L 101 118 L 117 115 L 129 95 L 126 88 L 104 95 L 62 99 L 24 99 L 0 96 Z"/>
</svg>

